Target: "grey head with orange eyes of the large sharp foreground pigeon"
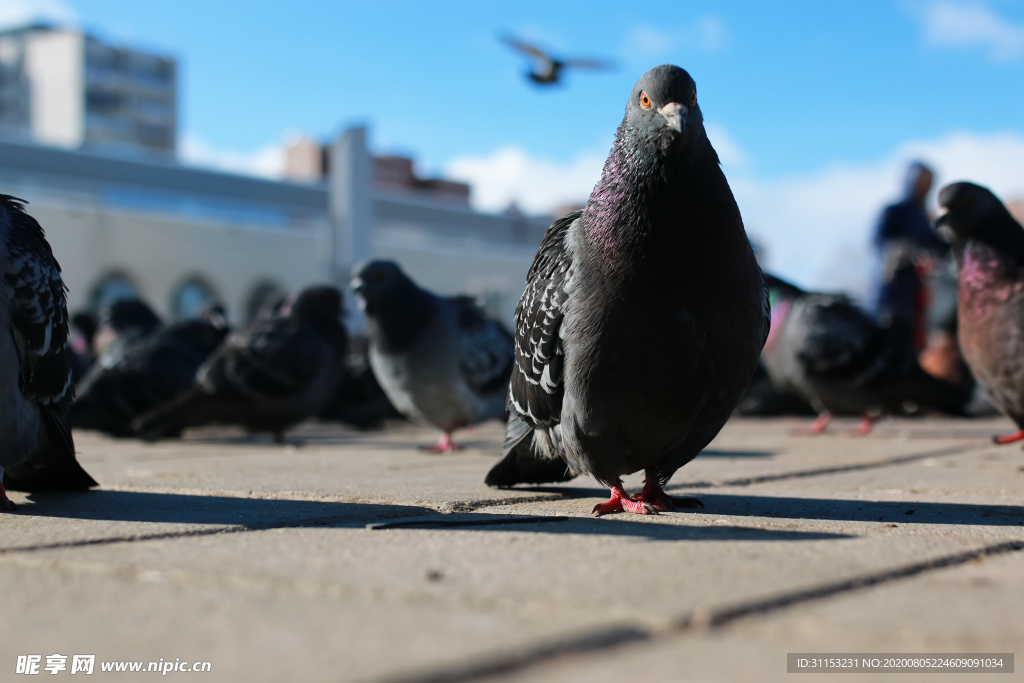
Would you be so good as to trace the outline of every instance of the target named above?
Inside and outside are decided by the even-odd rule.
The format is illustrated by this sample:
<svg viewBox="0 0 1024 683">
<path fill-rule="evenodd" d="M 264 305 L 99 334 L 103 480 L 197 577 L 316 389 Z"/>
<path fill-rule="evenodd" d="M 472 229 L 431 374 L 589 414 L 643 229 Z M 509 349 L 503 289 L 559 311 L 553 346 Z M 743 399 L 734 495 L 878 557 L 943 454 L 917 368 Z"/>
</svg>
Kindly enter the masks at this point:
<svg viewBox="0 0 1024 683">
<path fill-rule="evenodd" d="M 663 150 L 692 140 L 703 129 L 693 79 L 673 65 L 654 67 L 633 86 L 623 125 Z"/>
</svg>

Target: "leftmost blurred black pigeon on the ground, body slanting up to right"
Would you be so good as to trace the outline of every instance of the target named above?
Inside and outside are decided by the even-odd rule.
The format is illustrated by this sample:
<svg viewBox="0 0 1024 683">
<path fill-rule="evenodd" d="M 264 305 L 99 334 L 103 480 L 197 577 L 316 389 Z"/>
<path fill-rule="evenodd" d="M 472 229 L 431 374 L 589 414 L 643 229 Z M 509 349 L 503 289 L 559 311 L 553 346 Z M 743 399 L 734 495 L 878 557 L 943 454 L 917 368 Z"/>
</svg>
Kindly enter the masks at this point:
<svg viewBox="0 0 1024 683">
<path fill-rule="evenodd" d="M 134 436 L 132 420 L 188 389 L 228 331 L 223 317 L 196 317 L 129 344 L 112 365 L 97 365 L 83 379 L 72 426 Z"/>
</svg>

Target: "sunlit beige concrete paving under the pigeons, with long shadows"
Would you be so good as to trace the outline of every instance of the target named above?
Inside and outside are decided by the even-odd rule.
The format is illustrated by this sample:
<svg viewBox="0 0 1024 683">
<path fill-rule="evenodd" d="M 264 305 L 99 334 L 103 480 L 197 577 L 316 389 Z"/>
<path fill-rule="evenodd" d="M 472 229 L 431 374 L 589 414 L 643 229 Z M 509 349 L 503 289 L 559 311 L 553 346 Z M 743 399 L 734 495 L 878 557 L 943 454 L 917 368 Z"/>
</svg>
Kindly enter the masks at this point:
<svg viewBox="0 0 1024 683">
<path fill-rule="evenodd" d="M 942 681 L 979 679 L 787 674 L 786 653 L 1024 652 L 1024 454 L 988 440 L 1011 424 L 802 424 L 730 422 L 670 485 L 702 510 L 602 518 L 592 480 L 485 487 L 497 424 L 451 456 L 403 424 L 77 433 L 102 487 L 0 516 L 0 680 L 95 654 L 90 680 L 162 659 L 211 681 Z"/>
</svg>

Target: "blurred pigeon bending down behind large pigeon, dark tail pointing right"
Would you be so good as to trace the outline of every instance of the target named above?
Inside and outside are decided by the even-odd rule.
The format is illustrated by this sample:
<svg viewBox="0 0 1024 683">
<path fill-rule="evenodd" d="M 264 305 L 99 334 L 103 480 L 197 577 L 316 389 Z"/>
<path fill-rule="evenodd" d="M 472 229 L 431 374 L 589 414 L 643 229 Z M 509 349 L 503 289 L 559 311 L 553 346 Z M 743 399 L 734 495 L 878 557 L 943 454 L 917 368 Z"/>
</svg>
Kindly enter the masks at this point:
<svg viewBox="0 0 1024 683">
<path fill-rule="evenodd" d="M 970 391 L 932 377 L 911 340 L 880 326 L 849 297 L 806 292 L 766 275 L 772 327 L 761 354 L 776 387 L 818 412 L 808 430 L 824 431 L 834 413 L 863 416 L 855 433 L 870 431 L 874 415 L 904 405 L 964 415 Z"/>
</svg>

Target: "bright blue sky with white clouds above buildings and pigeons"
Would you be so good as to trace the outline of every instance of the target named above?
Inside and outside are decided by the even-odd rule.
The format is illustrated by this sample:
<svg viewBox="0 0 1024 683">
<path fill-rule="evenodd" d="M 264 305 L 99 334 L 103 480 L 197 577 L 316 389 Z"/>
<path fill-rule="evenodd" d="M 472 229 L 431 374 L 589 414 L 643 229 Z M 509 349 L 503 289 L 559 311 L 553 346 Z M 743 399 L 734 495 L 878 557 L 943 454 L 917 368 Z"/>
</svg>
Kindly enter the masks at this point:
<svg viewBox="0 0 1024 683">
<path fill-rule="evenodd" d="M 678 63 L 769 265 L 806 284 L 858 286 L 848 261 L 913 157 L 1024 197 L 1019 1 L 0 0 L 30 12 L 175 55 L 195 163 L 272 174 L 289 134 L 365 122 L 486 210 L 585 199 L 632 84 Z M 617 68 L 538 90 L 505 32 Z"/>
</svg>

